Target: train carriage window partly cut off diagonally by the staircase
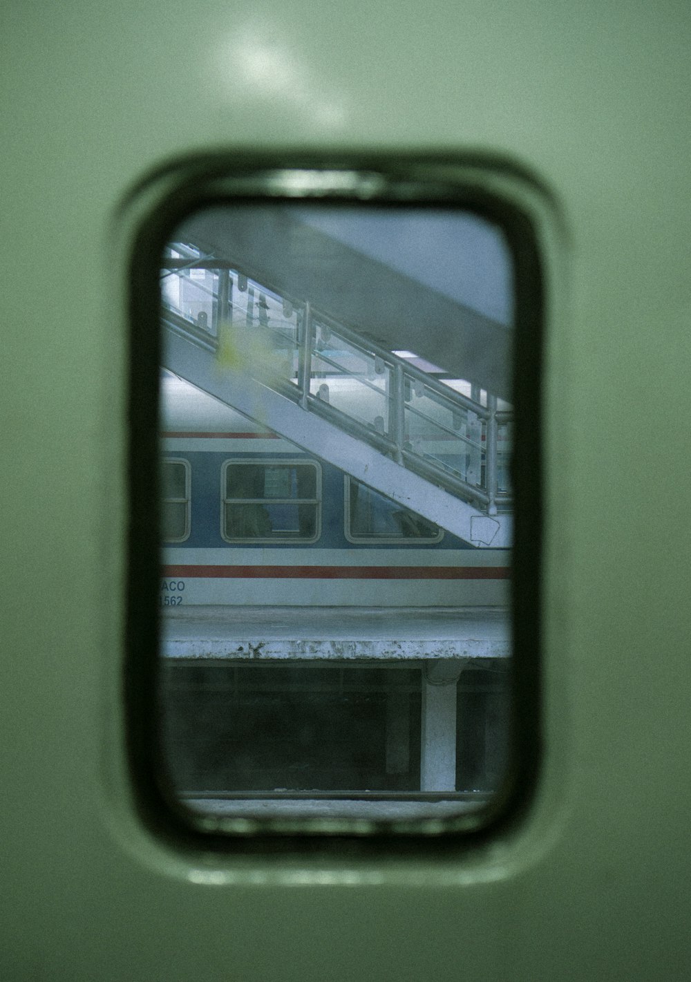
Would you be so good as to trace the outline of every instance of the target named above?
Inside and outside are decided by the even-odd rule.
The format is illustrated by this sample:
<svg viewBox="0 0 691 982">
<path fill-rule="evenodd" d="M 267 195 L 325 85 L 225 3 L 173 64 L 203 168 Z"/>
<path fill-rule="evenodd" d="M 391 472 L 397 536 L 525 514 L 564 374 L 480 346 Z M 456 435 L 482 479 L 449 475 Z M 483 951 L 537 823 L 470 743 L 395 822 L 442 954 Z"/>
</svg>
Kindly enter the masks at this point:
<svg viewBox="0 0 691 982">
<path fill-rule="evenodd" d="M 345 538 L 348 542 L 414 540 L 419 545 L 439 542 L 444 531 L 420 515 L 345 476 Z"/>
</svg>

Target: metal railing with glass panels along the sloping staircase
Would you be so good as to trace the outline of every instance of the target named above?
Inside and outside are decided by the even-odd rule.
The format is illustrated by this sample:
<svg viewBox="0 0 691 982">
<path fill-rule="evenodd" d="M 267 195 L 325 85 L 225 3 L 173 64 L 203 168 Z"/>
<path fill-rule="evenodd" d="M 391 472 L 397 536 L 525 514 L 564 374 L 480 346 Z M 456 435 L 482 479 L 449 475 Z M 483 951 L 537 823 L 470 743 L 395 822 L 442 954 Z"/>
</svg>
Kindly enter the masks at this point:
<svg viewBox="0 0 691 982">
<path fill-rule="evenodd" d="M 488 515 L 510 508 L 512 414 L 495 396 L 457 391 L 196 246 L 172 244 L 161 265 L 173 330 Z"/>
</svg>

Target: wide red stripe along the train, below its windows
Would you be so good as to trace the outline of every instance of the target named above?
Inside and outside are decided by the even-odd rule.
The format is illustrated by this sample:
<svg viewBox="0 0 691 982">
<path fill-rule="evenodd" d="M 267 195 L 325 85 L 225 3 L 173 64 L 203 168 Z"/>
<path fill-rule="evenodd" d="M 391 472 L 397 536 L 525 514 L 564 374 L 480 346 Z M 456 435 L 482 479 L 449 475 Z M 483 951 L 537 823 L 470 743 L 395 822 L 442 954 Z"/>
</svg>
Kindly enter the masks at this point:
<svg viewBox="0 0 691 982">
<path fill-rule="evenodd" d="M 507 566 L 164 566 L 165 577 L 218 579 L 508 579 Z"/>
</svg>

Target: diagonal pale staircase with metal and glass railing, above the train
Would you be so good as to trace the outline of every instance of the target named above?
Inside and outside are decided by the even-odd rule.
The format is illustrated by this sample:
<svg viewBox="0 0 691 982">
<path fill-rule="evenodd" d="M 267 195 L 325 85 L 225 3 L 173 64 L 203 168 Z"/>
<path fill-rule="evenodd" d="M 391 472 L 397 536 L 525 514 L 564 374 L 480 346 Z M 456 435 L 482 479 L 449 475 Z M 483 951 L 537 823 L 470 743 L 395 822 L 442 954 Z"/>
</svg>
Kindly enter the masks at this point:
<svg viewBox="0 0 691 982">
<path fill-rule="evenodd" d="M 459 538 L 511 545 L 510 408 L 227 256 L 167 251 L 164 368 Z"/>
</svg>

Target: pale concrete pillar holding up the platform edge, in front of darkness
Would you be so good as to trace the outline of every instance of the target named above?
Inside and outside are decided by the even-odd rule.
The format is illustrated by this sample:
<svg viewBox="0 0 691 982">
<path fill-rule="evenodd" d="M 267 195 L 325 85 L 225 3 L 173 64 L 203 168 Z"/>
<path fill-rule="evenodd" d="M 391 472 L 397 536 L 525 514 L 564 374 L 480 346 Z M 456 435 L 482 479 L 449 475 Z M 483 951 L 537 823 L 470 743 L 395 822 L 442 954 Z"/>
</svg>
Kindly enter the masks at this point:
<svg viewBox="0 0 691 982">
<path fill-rule="evenodd" d="M 456 683 L 463 665 L 448 659 L 424 667 L 420 791 L 455 791 Z"/>
</svg>

